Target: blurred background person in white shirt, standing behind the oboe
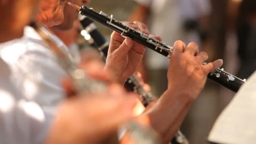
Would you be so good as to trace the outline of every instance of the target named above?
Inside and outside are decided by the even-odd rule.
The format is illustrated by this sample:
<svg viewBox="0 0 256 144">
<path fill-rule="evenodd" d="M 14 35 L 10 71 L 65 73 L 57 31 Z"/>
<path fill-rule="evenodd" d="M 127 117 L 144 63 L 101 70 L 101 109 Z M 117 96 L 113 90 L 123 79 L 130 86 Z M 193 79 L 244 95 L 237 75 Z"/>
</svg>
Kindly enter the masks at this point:
<svg viewBox="0 0 256 144">
<path fill-rule="evenodd" d="M 132 21 L 142 21 L 149 31 L 173 45 L 176 40 L 201 43 L 206 38 L 208 19 L 211 13 L 209 0 L 135 0 L 138 7 Z M 204 30 L 203 30 L 204 29 Z M 199 46 L 200 47 L 200 46 Z M 140 72 L 149 80 L 152 91 L 160 96 L 166 89 L 165 76 L 169 60 L 154 51 L 147 51 Z M 148 69 L 148 70 L 146 70 Z"/>
</svg>

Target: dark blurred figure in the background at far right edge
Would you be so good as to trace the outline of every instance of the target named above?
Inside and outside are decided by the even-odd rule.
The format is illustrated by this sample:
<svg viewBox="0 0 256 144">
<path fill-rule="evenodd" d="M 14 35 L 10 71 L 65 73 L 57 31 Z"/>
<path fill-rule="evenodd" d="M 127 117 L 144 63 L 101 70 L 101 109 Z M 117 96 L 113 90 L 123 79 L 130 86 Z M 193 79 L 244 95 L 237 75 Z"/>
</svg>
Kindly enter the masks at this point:
<svg viewBox="0 0 256 144">
<path fill-rule="evenodd" d="M 256 1 L 243 0 L 237 19 L 239 77 L 248 78 L 256 69 Z"/>
</svg>

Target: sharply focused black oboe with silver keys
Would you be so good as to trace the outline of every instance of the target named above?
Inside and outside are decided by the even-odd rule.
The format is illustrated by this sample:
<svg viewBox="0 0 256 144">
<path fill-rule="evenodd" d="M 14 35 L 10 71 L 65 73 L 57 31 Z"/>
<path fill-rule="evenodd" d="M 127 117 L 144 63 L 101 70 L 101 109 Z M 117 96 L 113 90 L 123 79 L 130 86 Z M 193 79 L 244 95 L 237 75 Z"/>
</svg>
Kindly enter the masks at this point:
<svg viewBox="0 0 256 144">
<path fill-rule="evenodd" d="M 71 6 L 77 9 L 81 15 L 87 16 L 88 18 L 93 19 L 94 21 L 97 21 L 100 24 L 116 32 L 119 32 L 123 37 L 129 37 L 132 40 L 140 43 L 141 45 L 144 45 L 147 48 L 150 48 L 153 51 L 162 54 L 163 56 L 167 56 L 169 59 L 171 58 L 173 47 L 157 40 L 155 37 L 144 34 L 139 29 L 134 29 L 127 24 L 115 20 L 113 18 L 113 15 L 108 16 L 102 11 L 100 13 L 97 13 L 93 10 L 93 8 L 88 8 L 85 5 L 83 5 L 82 7 L 77 5 Z M 211 72 L 208 75 L 208 78 L 234 92 L 237 92 L 241 85 L 246 83 L 246 79 L 242 80 L 232 74 L 229 74 L 228 72 L 225 72 L 224 69 L 220 68 Z"/>
</svg>

